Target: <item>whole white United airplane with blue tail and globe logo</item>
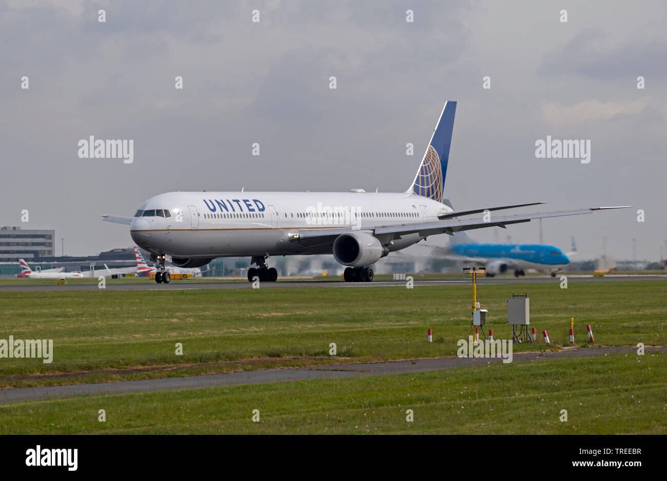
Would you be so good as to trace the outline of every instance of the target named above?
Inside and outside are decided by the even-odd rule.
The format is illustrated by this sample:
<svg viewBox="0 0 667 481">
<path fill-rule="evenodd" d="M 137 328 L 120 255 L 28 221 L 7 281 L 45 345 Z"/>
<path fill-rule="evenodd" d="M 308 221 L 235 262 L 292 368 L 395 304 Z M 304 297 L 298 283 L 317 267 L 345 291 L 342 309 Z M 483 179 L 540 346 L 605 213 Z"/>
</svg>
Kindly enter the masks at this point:
<svg viewBox="0 0 667 481">
<path fill-rule="evenodd" d="M 158 262 L 156 282 L 169 282 L 165 260 L 179 267 L 203 266 L 216 257 L 249 256 L 247 277 L 275 281 L 270 256 L 333 254 L 347 282 L 373 280 L 372 264 L 426 239 L 532 219 L 590 214 L 590 207 L 530 215 L 468 217 L 484 211 L 543 204 L 533 202 L 454 211 L 443 201 L 456 102 L 447 101 L 410 187 L 401 193 L 350 192 L 170 192 L 151 197 L 134 217 L 103 215 L 129 225 L 134 242 Z M 461 219 L 468 217 L 467 219 Z"/>
</svg>

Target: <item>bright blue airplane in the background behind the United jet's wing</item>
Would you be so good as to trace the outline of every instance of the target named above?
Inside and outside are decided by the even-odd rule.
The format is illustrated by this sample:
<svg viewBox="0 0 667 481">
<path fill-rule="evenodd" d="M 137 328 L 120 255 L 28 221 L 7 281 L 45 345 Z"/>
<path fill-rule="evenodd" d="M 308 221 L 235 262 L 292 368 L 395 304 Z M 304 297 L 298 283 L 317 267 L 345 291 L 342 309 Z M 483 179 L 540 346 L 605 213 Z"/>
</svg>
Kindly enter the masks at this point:
<svg viewBox="0 0 667 481">
<path fill-rule="evenodd" d="M 514 276 L 524 276 L 526 269 L 549 272 L 552 277 L 570 263 L 570 258 L 560 248 L 546 244 L 480 244 L 464 232 L 454 233 L 450 245 L 439 248 L 444 256 L 466 262 L 476 262 L 486 267 L 486 276 L 493 277 L 514 270 Z M 572 252 L 576 244 L 572 237 Z"/>
</svg>

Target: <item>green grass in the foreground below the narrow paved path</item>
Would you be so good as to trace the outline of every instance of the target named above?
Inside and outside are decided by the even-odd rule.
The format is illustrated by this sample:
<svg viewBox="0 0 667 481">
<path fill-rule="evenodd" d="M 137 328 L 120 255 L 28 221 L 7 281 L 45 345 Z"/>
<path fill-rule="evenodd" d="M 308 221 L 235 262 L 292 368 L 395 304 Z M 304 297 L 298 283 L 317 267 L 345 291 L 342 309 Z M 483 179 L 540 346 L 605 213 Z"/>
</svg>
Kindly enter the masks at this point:
<svg viewBox="0 0 667 481">
<path fill-rule="evenodd" d="M 666 356 L 0 404 L 0 433 L 667 434 Z M 255 409 L 259 422 L 252 421 Z"/>
</svg>

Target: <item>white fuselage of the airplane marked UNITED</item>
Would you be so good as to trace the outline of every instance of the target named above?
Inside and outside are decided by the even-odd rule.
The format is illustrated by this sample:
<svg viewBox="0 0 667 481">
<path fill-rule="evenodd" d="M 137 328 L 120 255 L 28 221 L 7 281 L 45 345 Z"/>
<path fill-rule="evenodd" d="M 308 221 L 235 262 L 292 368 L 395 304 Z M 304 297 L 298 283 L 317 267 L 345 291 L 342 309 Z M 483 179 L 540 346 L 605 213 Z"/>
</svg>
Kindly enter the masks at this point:
<svg viewBox="0 0 667 481">
<path fill-rule="evenodd" d="M 365 225 L 436 221 L 438 214 L 451 211 L 409 193 L 172 192 L 145 201 L 130 232 L 149 252 L 179 258 L 331 254 L 331 244 L 291 239 L 301 229 L 352 226 L 363 231 Z M 417 233 L 397 236 L 388 249 L 421 239 Z"/>
</svg>

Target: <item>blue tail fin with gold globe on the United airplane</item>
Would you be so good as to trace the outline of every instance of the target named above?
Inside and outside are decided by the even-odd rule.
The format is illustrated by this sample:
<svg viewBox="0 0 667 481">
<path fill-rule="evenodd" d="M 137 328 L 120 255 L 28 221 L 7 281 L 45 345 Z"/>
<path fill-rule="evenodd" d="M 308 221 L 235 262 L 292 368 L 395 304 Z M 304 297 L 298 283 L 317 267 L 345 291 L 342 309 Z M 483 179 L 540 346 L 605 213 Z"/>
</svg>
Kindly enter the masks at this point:
<svg viewBox="0 0 667 481">
<path fill-rule="evenodd" d="M 446 101 L 431 141 L 408 192 L 442 202 L 447 163 L 450 159 L 456 102 Z"/>
</svg>

